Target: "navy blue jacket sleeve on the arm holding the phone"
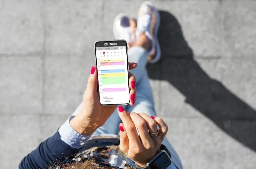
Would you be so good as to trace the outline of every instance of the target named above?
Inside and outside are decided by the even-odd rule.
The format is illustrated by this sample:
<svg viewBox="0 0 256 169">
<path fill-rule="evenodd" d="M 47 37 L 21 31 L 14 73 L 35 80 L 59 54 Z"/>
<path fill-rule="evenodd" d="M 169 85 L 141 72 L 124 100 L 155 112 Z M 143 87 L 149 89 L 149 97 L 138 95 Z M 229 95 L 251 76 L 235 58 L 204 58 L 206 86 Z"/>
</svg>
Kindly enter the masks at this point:
<svg viewBox="0 0 256 169">
<path fill-rule="evenodd" d="M 40 143 L 36 150 L 22 159 L 19 169 L 45 169 L 54 163 L 61 163 L 78 152 L 60 139 L 57 131 L 52 137 Z"/>
</svg>

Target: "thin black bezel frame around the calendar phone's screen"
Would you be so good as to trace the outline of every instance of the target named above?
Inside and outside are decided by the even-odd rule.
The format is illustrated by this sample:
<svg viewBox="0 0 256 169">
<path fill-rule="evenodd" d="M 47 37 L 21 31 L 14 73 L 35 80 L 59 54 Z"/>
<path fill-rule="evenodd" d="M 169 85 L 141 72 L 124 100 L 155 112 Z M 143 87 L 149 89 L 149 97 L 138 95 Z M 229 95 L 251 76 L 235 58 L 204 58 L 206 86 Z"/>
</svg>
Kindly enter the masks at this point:
<svg viewBox="0 0 256 169">
<path fill-rule="evenodd" d="M 125 43 L 125 46 L 126 46 L 126 61 L 127 61 L 127 70 L 128 70 L 128 77 L 127 77 L 127 80 L 128 80 L 128 90 L 129 90 L 129 97 L 130 97 L 130 86 L 129 86 L 129 78 L 130 78 L 130 75 L 129 75 L 129 62 L 128 62 L 128 46 L 127 46 L 127 42 L 126 40 L 122 39 L 122 40 L 103 40 L 103 41 L 96 41 L 94 43 L 94 50 L 95 50 L 95 61 L 96 61 L 96 68 L 97 68 L 97 89 L 98 89 L 98 95 L 99 95 L 99 99 L 100 99 L 100 91 L 99 91 L 99 77 L 98 77 L 98 65 L 97 65 L 97 56 L 96 56 L 96 43 L 98 42 L 113 42 L 113 41 L 123 41 Z M 100 102 L 100 105 L 102 106 L 110 106 L 110 105 L 128 105 L 130 104 L 130 98 L 129 98 L 129 102 L 128 103 L 120 103 L 120 104 L 101 104 Z"/>
</svg>

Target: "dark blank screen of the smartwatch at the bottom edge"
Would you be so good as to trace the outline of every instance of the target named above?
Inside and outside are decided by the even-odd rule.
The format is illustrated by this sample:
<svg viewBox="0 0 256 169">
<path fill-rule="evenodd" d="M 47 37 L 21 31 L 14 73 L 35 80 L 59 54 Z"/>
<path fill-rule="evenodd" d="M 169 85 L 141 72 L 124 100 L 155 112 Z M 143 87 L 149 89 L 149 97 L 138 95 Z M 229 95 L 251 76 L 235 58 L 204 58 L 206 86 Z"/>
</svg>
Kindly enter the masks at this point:
<svg viewBox="0 0 256 169">
<path fill-rule="evenodd" d="M 171 164 L 172 164 L 172 161 L 167 155 L 167 153 L 162 152 L 159 156 L 157 156 L 153 161 L 150 162 L 149 168 L 163 169 L 163 168 L 167 168 Z"/>
</svg>

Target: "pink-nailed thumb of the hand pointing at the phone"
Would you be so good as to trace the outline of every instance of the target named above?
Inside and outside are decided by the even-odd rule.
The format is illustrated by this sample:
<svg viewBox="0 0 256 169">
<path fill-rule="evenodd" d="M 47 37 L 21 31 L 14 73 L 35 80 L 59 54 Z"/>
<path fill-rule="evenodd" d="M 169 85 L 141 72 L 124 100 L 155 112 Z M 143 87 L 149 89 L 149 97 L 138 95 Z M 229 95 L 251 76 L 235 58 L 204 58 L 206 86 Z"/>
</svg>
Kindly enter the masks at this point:
<svg viewBox="0 0 256 169">
<path fill-rule="evenodd" d="M 122 150 L 126 155 L 128 154 L 128 150 L 129 150 L 129 139 L 128 136 L 126 134 L 126 131 L 124 129 L 124 124 L 120 123 L 119 124 L 119 136 L 120 136 L 120 145 L 119 148 L 120 150 Z"/>
</svg>

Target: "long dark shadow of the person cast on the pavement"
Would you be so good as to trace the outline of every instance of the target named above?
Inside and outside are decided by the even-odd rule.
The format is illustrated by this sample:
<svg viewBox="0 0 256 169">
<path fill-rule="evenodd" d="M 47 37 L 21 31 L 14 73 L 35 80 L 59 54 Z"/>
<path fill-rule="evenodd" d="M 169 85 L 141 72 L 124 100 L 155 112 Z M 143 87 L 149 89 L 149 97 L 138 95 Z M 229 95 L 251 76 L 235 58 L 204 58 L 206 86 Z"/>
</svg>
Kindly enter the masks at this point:
<svg viewBox="0 0 256 169">
<path fill-rule="evenodd" d="M 186 97 L 188 104 L 256 151 L 256 123 L 252 122 L 256 121 L 255 110 L 204 72 L 193 59 L 193 51 L 172 14 L 160 11 L 160 17 L 158 38 L 162 56 L 159 62 L 148 64 L 149 78 L 168 81 Z M 156 73 L 156 67 L 160 73 Z"/>
</svg>

